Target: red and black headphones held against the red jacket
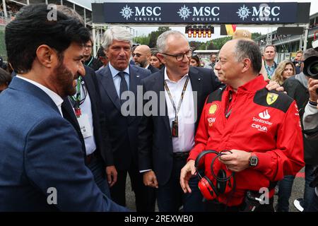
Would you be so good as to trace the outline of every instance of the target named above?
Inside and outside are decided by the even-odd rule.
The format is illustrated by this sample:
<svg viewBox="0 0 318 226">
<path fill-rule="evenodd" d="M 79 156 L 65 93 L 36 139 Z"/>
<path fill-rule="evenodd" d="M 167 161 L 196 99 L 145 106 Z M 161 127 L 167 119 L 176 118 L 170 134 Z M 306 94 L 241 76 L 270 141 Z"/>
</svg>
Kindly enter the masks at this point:
<svg viewBox="0 0 318 226">
<path fill-rule="evenodd" d="M 225 155 L 224 152 L 229 152 L 228 150 L 223 150 L 220 153 L 218 153 L 216 150 L 204 150 L 201 152 L 198 157 L 196 157 L 196 161 L 194 163 L 194 167 L 196 167 L 196 172 L 199 177 L 199 189 L 201 191 L 201 194 L 206 198 L 207 200 L 213 200 L 219 196 L 219 194 L 225 193 L 225 191 L 228 191 L 229 189 L 232 190 L 232 185 L 234 184 L 234 172 L 230 174 L 229 177 L 227 177 L 227 174 L 224 169 L 220 169 L 218 171 L 218 175 L 214 174 L 213 172 L 213 164 L 216 158 L 220 157 L 220 155 Z M 211 162 L 211 173 L 213 177 L 216 179 L 216 185 L 214 185 L 210 179 L 208 179 L 207 176 L 202 177 L 198 170 L 198 165 L 202 157 L 207 154 L 215 154 L 216 157 L 213 158 Z M 233 178 L 233 182 L 230 183 L 230 179 Z M 229 181 L 229 182 L 228 182 Z"/>
</svg>

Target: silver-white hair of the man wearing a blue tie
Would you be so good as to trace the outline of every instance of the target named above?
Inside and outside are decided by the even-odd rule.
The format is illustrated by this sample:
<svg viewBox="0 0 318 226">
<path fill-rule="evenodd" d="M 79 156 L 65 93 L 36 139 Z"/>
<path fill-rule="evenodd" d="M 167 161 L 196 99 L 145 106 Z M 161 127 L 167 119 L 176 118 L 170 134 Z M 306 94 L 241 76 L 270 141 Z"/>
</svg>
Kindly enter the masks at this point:
<svg viewBox="0 0 318 226">
<path fill-rule="evenodd" d="M 113 26 L 108 28 L 102 36 L 102 47 L 108 49 L 114 40 L 120 42 L 128 42 L 130 47 L 132 46 L 131 33 L 125 28 L 119 26 Z"/>
</svg>

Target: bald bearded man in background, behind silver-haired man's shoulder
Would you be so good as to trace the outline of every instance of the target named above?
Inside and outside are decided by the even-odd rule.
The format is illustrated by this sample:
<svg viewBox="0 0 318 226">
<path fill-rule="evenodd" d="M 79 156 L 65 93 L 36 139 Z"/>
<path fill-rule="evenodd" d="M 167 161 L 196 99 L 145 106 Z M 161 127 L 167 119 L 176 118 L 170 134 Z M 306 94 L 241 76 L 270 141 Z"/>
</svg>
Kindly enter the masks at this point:
<svg viewBox="0 0 318 226">
<path fill-rule="evenodd" d="M 134 61 L 136 65 L 141 66 L 144 69 L 148 69 L 151 73 L 159 71 L 150 64 L 151 49 L 146 44 L 141 44 L 134 50 Z"/>
</svg>

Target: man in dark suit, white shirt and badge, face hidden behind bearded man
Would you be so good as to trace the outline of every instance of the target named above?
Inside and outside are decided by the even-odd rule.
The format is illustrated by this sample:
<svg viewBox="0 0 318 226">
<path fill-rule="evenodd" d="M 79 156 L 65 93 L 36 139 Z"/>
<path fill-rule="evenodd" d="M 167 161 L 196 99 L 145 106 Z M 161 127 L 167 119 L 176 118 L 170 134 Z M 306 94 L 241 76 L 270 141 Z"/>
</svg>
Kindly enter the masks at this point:
<svg viewBox="0 0 318 226">
<path fill-rule="evenodd" d="M 93 173 L 96 184 L 102 193 L 110 197 L 109 186 L 116 182 L 117 172 L 112 163 L 108 131 L 102 130 L 107 125 L 105 125 L 105 117 L 100 109 L 100 89 L 95 71 L 88 66 L 84 67 L 86 74 L 78 78 L 78 86 L 76 85 L 80 97 L 76 98 L 76 93 L 76 95 L 64 98 L 61 109 L 64 118 L 73 125 L 78 133 L 86 166 Z M 77 117 L 78 109 L 81 114 Z M 110 184 L 108 184 L 106 176 L 109 177 Z M 114 179 L 112 180 L 111 177 Z"/>
</svg>

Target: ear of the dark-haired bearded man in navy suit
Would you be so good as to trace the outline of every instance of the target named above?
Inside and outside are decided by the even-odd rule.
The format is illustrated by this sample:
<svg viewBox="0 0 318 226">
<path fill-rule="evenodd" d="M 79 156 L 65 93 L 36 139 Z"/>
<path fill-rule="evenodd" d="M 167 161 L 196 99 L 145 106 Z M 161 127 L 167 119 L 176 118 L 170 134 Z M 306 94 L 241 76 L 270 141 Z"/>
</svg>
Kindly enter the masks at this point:
<svg viewBox="0 0 318 226">
<path fill-rule="evenodd" d="M 57 52 L 47 44 L 42 44 L 40 47 L 37 47 L 36 55 L 37 61 L 39 61 L 42 66 L 52 68 L 52 66 L 57 64 Z"/>
</svg>

